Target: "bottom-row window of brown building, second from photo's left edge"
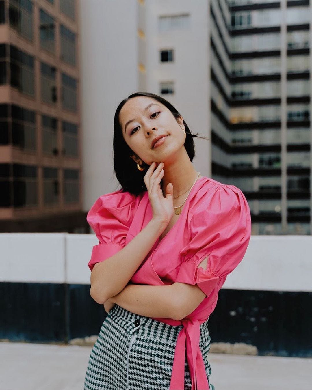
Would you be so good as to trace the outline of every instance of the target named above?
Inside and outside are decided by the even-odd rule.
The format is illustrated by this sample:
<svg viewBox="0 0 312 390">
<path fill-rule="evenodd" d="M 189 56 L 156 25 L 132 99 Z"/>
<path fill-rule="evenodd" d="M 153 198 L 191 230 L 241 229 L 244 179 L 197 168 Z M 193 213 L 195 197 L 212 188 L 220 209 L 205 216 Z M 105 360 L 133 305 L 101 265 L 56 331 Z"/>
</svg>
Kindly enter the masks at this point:
<svg viewBox="0 0 312 390">
<path fill-rule="evenodd" d="M 13 164 L 14 207 L 37 206 L 37 169 L 33 165 Z"/>
</svg>

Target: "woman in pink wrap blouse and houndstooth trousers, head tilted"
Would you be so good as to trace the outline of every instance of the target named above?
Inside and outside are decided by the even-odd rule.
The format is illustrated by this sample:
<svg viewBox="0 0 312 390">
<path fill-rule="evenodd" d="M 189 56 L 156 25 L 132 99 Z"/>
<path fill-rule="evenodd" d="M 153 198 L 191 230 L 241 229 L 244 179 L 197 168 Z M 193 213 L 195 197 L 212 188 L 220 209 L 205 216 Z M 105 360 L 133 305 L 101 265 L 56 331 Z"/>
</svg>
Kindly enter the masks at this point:
<svg viewBox="0 0 312 390">
<path fill-rule="evenodd" d="M 132 94 L 116 110 L 122 188 L 87 215 L 99 239 L 90 294 L 108 314 L 85 390 L 214 390 L 207 323 L 244 257 L 251 219 L 241 190 L 194 169 L 196 136 L 155 94 Z"/>
</svg>

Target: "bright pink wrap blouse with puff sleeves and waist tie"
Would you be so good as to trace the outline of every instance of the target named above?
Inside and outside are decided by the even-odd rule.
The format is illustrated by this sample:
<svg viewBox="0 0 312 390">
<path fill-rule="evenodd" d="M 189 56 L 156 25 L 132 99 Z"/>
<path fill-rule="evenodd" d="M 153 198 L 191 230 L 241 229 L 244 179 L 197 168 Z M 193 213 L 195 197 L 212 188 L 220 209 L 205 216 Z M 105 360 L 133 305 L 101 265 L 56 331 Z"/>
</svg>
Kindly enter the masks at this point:
<svg viewBox="0 0 312 390">
<path fill-rule="evenodd" d="M 127 245 L 152 216 L 147 191 L 135 196 L 117 190 L 100 196 L 87 214 L 87 222 L 100 241 L 93 246 L 88 263 L 91 271 L 95 263 Z M 202 176 L 194 184 L 178 220 L 163 239 L 157 239 L 130 279 L 133 284 L 143 285 L 196 284 L 206 295 L 181 321 L 153 318 L 169 325 L 183 325 L 175 347 L 170 390 L 184 388 L 185 348 L 192 390 L 209 390 L 199 347 L 200 324 L 214 311 L 226 275 L 241 262 L 250 235 L 250 209 L 242 191 Z M 207 269 L 197 268 L 207 256 Z"/>
</svg>

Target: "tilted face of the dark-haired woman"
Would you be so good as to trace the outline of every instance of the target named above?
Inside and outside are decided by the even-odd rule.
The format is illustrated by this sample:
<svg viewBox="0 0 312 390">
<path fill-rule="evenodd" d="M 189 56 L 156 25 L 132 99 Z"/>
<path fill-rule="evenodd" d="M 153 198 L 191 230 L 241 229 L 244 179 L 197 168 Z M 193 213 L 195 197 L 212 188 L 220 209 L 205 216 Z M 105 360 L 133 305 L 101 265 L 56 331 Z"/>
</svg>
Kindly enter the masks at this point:
<svg viewBox="0 0 312 390">
<path fill-rule="evenodd" d="M 119 122 L 128 146 L 148 165 L 169 161 L 185 142 L 183 118 L 176 120 L 166 106 L 151 97 L 129 99 L 121 108 Z M 159 135 L 166 138 L 153 147 L 152 141 Z"/>
</svg>

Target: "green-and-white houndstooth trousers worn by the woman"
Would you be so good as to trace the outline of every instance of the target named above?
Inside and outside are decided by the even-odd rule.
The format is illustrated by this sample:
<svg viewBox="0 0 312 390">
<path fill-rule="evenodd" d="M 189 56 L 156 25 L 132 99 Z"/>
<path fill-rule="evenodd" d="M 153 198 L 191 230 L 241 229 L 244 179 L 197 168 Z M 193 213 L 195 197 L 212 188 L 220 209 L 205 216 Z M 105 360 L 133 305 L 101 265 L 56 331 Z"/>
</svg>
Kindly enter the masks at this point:
<svg viewBox="0 0 312 390">
<path fill-rule="evenodd" d="M 209 381 L 207 322 L 200 324 L 199 346 Z M 107 314 L 92 348 L 84 390 L 168 390 L 182 327 L 139 316 L 115 305 Z M 214 390 L 214 385 L 210 383 L 209 388 Z M 191 390 L 186 353 L 184 389 L 181 390 Z"/>
</svg>

